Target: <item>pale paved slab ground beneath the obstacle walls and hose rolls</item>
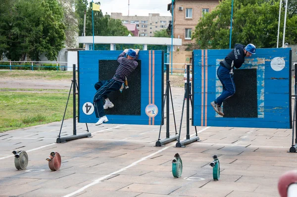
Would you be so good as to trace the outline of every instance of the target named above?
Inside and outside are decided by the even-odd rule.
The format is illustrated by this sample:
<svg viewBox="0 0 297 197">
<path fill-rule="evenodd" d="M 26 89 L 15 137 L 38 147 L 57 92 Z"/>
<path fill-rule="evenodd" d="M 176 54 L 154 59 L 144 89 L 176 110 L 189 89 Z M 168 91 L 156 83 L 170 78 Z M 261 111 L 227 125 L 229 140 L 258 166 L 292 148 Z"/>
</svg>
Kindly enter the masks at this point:
<svg viewBox="0 0 297 197">
<path fill-rule="evenodd" d="M 173 87 L 172 93 L 179 128 L 183 88 Z M 64 121 L 62 136 L 72 135 L 72 122 Z M 197 127 L 201 142 L 175 148 L 176 142 L 154 146 L 160 126 L 88 124 L 92 138 L 56 144 L 60 126 L 54 122 L 0 134 L 1 197 L 279 197 L 278 178 L 296 169 L 297 154 L 287 152 L 290 129 Z M 165 131 L 164 125 L 161 139 Z M 85 124 L 78 123 L 77 133 L 85 132 Z M 175 134 L 172 112 L 170 132 Z M 14 149 L 27 151 L 25 170 L 16 170 Z M 58 171 L 50 171 L 46 161 L 51 151 L 61 155 Z M 183 161 L 180 178 L 172 175 L 177 152 Z M 212 179 L 209 166 L 214 154 L 221 164 L 219 181 Z"/>
</svg>

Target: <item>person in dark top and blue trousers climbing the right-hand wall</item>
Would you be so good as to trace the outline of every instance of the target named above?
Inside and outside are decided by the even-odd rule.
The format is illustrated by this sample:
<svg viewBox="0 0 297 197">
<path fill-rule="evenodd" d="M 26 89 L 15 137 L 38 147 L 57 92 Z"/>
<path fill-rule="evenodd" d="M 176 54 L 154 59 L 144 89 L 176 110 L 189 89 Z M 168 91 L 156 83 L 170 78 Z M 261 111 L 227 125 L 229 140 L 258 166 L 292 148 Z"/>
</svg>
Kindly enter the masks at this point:
<svg viewBox="0 0 297 197">
<path fill-rule="evenodd" d="M 255 54 L 256 48 L 253 44 L 247 46 L 236 44 L 234 49 L 220 62 L 217 70 L 217 76 L 223 85 L 222 94 L 211 102 L 213 109 L 220 115 L 224 115 L 222 111 L 222 103 L 225 99 L 235 94 L 235 84 L 233 81 L 233 67 L 240 68 L 245 62 L 245 57 Z M 232 65 L 234 63 L 234 65 Z"/>
</svg>

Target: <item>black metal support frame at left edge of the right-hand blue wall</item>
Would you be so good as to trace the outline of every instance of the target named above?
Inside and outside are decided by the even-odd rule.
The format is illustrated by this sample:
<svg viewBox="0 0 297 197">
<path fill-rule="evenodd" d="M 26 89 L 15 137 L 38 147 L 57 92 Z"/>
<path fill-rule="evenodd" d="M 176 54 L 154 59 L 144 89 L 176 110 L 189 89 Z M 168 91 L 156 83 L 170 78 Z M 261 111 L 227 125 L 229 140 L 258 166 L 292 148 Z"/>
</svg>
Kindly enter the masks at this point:
<svg viewBox="0 0 297 197">
<path fill-rule="evenodd" d="M 186 135 L 186 140 L 180 142 L 186 94 L 187 94 L 187 135 Z M 186 85 L 184 95 L 185 96 L 184 96 L 184 101 L 183 101 L 181 124 L 180 124 L 179 136 L 178 136 L 178 140 L 177 140 L 178 142 L 175 145 L 175 147 L 178 147 L 178 148 L 185 147 L 185 145 L 188 145 L 188 144 L 193 143 L 193 142 L 200 141 L 200 139 L 198 137 L 198 134 L 197 134 L 196 126 L 195 126 L 196 136 L 193 137 L 193 138 L 190 138 L 190 101 L 191 101 L 191 106 L 192 107 L 193 107 L 193 102 L 192 102 L 192 94 L 190 94 L 190 65 L 189 64 L 187 65 L 187 85 Z"/>
</svg>

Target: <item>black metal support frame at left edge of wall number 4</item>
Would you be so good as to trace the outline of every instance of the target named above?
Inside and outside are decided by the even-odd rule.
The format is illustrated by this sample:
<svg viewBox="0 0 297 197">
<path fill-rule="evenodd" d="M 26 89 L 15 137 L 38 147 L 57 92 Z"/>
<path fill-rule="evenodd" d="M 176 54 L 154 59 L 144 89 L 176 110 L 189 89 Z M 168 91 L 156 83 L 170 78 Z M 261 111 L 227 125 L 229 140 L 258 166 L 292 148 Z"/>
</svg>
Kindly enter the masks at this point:
<svg viewBox="0 0 297 197">
<path fill-rule="evenodd" d="M 73 80 L 72 80 L 72 83 L 71 83 L 71 87 L 70 87 L 70 91 L 69 91 L 69 95 L 68 95 L 68 99 L 67 99 L 67 103 L 66 103 L 66 107 L 65 107 L 65 111 L 64 111 L 64 116 L 63 116 L 63 120 L 62 120 L 62 124 L 61 124 L 61 128 L 60 128 L 60 133 L 59 133 L 58 138 L 56 140 L 57 143 L 65 143 L 65 142 L 68 142 L 68 141 L 71 141 L 71 140 L 77 140 L 77 139 L 81 139 L 81 138 L 90 138 L 92 136 L 92 134 L 89 132 L 89 128 L 88 128 L 87 123 L 86 123 L 86 127 L 87 127 L 88 132 L 84 133 L 84 134 L 76 135 L 76 88 L 78 90 L 78 86 L 77 86 L 77 83 L 76 83 L 75 71 L 76 71 L 75 70 L 75 64 L 73 64 Z M 69 101 L 72 86 L 73 86 L 73 135 L 61 138 L 61 130 L 62 130 L 62 126 L 63 126 L 65 113 L 66 113 L 66 109 L 67 109 L 67 105 L 68 105 L 68 101 Z"/>
</svg>

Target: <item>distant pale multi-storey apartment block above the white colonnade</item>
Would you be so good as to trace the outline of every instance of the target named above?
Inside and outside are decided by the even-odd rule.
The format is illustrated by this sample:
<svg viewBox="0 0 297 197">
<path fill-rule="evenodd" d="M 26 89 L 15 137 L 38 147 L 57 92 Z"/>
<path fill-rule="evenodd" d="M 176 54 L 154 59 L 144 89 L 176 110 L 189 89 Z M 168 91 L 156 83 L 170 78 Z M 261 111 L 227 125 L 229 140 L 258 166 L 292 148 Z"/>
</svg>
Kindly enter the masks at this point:
<svg viewBox="0 0 297 197">
<path fill-rule="evenodd" d="M 135 23 L 140 37 L 153 37 L 155 31 L 167 29 L 171 22 L 171 16 L 160 16 L 160 14 L 148 14 L 148 16 L 123 16 L 122 13 L 112 12 L 111 18 L 119 19 L 123 24 Z"/>
</svg>

